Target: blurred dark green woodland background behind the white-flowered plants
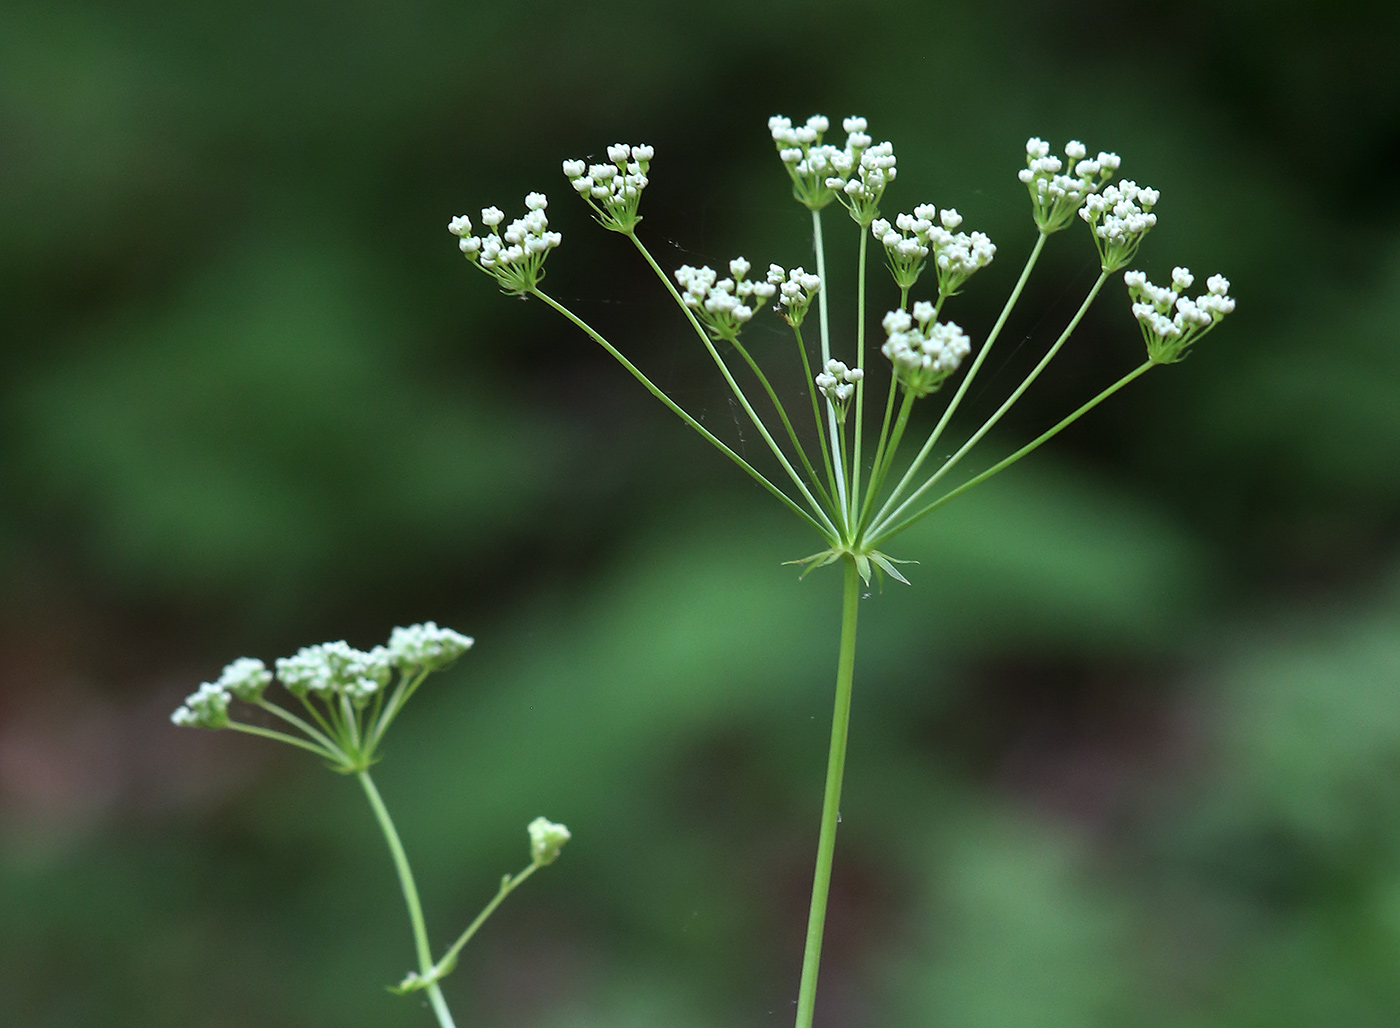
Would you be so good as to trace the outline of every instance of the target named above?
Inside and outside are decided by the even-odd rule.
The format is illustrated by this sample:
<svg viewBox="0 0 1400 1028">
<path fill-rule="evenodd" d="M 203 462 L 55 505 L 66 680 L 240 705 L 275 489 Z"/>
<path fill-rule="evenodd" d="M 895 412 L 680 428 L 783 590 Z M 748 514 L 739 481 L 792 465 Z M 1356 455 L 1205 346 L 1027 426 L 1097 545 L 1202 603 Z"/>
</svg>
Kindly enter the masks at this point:
<svg viewBox="0 0 1400 1028">
<path fill-rule="evenodd" d="M 1030 134 L 1121 153 L 1163 196 L 1140 266 L 1239 300 L 893 546 L 819 1025 L 1400 1022 L 1396 11 L 7 0 L 0 1022 L 430 1024 L 382 987 L 410 938 L 353 783 L 168 713 L 232 657 L 434 618 L 477 648 L 377 777 L 437 943 L 529 818 L 575 833 L 448 980 L 459 1024 L 788 1024 L 839 576 L 798 581 L 804 529 L 445 224 L 549 190 L 552 291 L 752 445 L 559 162 L 652 143 L 662 263 L 795 265 L 764 120 L 813 111 L 893 140 L 889 210 L 998 244 L 949 310 L 974 339 Z M 963 431 L 1088 238 L 1040 269 Z M 969 469 L 1140 347 L 1110 284 Z"/>
</svg>

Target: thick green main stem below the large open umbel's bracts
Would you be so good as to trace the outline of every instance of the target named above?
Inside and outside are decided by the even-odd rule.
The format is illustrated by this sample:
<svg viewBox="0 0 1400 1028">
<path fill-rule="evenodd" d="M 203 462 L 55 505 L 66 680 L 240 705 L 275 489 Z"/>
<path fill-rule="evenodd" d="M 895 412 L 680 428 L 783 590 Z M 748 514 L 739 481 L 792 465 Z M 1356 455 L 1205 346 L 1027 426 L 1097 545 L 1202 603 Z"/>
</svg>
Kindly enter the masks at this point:
<svg viewBox="0 0 1400 1028">
<path fill-rule="evenodd" d="M 836 704 L 832 711 L 832 749 L 826 760 L 826 793 L 822 800 L 822 833 L 816 845 L 816 873 L 812 877 L 812 910 L 806 920 L 802 951 L 802 983 L 798 986 L 797 1028 L 812 1028 L 816 1006 L 816 972 L 822 962 L 822 931 L 826 926 L 826 896 L 832 888 L 832 856 L 841 810 L 841 776 L 846 772 L 846 735 L 851 723 L 851 681 L 855 672 L 855 613 L 860 602 L 860 573 L 847 555 L 846 590 L 841 599 L 841 648 L 836 661 Z"/>
</svg>

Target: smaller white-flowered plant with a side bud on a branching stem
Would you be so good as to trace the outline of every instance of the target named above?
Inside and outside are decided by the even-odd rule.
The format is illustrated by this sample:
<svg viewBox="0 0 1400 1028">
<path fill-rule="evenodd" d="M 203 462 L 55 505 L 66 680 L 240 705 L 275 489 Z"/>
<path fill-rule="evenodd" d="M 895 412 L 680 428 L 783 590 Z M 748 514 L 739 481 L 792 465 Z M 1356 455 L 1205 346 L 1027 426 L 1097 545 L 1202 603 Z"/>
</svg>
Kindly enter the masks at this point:
<svg viewBox="0 0 1400 1028">
<path fill-rule="evenodd" d="M 413 871 L 389 811 L 370 777 L 370 766 L 378 760 L 379 744 L 389 725 L 423 681 L 434 671 L 451 667 L 472 644 L 469 636 L 427 622 L 393 629 L 388 646 L 377 646 L 368 651 L 356 650 L 344 641 L 302 647 L 294 657 L 280 658 L 276 668 L 277 681 L 297 700 L 305 717 L 269 700 L 266 692 L 273 672 L 260 660 L 239 657 L 224 668 L 218 681 L 199 686 L 185 700 L 185 706 L 171 714 L 178 725 L 232 728 L 286 742 L 323 758 L 332 770 L 360 779 L 393 857 L 419 959 L 419 969 L 409 972 L 398 986 L 391 986 L 391 992 L 426 990 L 440 1028 L 452 1028 L 454 1022 L 438 982 L 456 966 L 462 947 L 505 896 L 538 868 L 552 864 L 568 842 L 567 828 L 547 818 L 535 818 L 526 826 L 529 864 L 518 874 L 501 878 L 491 902 L 466 926 L 441 959 L 433 959 Z M 228 713 L 235 699 L 283 721 L 295 734 L 235 721 Z"/>
</svg>

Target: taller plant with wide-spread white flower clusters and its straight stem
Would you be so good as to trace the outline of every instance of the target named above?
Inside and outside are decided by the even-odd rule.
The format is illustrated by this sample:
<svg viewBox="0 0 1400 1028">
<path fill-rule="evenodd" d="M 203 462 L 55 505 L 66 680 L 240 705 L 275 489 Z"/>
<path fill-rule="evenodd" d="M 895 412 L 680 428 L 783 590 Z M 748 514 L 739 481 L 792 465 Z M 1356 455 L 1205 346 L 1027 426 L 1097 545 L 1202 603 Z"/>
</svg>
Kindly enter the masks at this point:
<svg viewBox="0 0 1400 1028">
<path fill-rule="evenodd" d="M 864 118 L 847 118 L 843 122 L 846 143 L 840 147 L 823 141 L 829 127 L 830 123 L 820 115 L 809 118 L 801 126 L 794 126 L 783 116 L 769 119 L 778 158 L 791 179 L 792 196 L 812 214 L 815 273 L 802 268 L 784 270 L 778 265 L 770 265 L 762 279 L 755 279 L 749 277 L 753 266 L 743 258 L 735 258 L 729 262 L 725 277 L 711 268 L 683 266 L 675 272 L 672 283 L 637 237 L 637 223 L 641 220 L 638 206 L 647 188 L 652 147 L 616 143 L 608 147 L 605 162 L 589 165 L 585 161 L 568 160 L 563 164 L 564 176 L 574 192 L 592 207 L 599 224 L 624 235 L 636 246 L 689 319 L 700 345 L 708 352 L 735 401 L 781 468 L 783 478 L 778 479 L 784 483 L 781 486 L 707 431 L 596 329 L 540 290 L 545 258 L 560 242 L 559 232 L 549 231 L 543 195 L 531 193 L 526 197 L 525 206 L 529 213 L 514 221 L 504 235 L 497 235 L 496 230 L 503 216 L 494 207 L 482 211 L 482 223 L 489 230 L 484 237 L 472 234 L 470 218 L 465 216 L 452 218 L 448 225 L 459 238 L 461 249 L 468 259 L 494 277 L 505 293 L 535 297 L 582 329 L 657 399 L 811 527 L 825 546 L 808 557 L 792 562 L 802 566 L 804 576 L 825 564 L 840 562 L 844 566 L 836 709 L 802 980 L 798 990 L 798 1028 L 811 1027 L 816 994 L 816 972 L 839 819 L 837 804 L 846 762 L 860 581 L 868 584 L 872 573 L 906 581 L 895 566 L 903 562 L 885 555 L 882 546 L 959 493 L 1019 461 L 1133 380 L 1159 364 L 1184 357 L 1191 345 L 1235 308 L 1235 301 L 1228 296 L 1229 282 L 1222 276 L 1210 279 L 1205 294 L 1187 300 L 1179 298 L 1179 293 L 1191 284 L 1191 275 L 1184 268 L 1173 272 L 1170 289 L 1154 286 L 1141 272 L 1128 272 L 1124 282 L 1133 300 L 1133 315 L 1138 319 L 1147 343 L 1147 360 L 1011 455 L 941 496 L 927 499 L 930 490 L 942 482 L 1040 377 L 1070 339 L 1109 276 L 1128 265 L 1142 238 L 1156 224 L 1154 209 L 1159 200 L 1158 190 L 1131 181 L 1112 183 L 1120 165 L 1117 154 L 1099 153 L 1091 158 L 1082 143 L 1071 141 L 1065 146 L 1065 157 L 1061 160 L 1050 154 L 1046 141 L 1029 140 L 1026 167 L 1021 169 L 1019 179 L 1030 193 L 1032 217 L 1039 228 L 1039 238 L 956 392 L 890 487 L 892 473 L 900 466 L 897 464 L 900 445 L 914 402 L 937 392 L 972 354 L 973 342 L 963 329 L 942 318 L 944 304 L 956 296 L 977 270 L 993 261 L 997 248 L 981 232 L 960 231 L 963 218 L 953 209 L 939 210 L 931 203 L 924 203 L 916 206 L 913 213 L 897 214 L 893 221 L 882 218 L 881 202 L 886 188 L 897 175 L 893 146 L 875 143 L 867 133 Z M 827 273 L 822 211 L 833 202 L 846 207 L 860 232 L 860 258 L 855 269 L 857 317 L 854 331 L 843 340 L 844 360 L 833 356 L 825 289 Z M 1099 253 L 1102 272 L 1098 280 L 1056 342 L 1005 402 L 938 468 L 925 471 L 938 440 L 1001 335 L 1032 269 L 1040 259 L 1046 241 L 1050 235 L 1071 227 L 1077 214 L 1088 224 Z M 865 436 L 865 389 L 869 382 L 865 374 L 865 265 L 871 238 L 883 249 L 890 276 L 899 290 L 899 307 L 889 311 L 882 321 L 885 342 L 881 352 L 889 359 L 890 368 L 882 405 L 883 417 L 872 451 L 867 450 Z M 930 298 L 910 305 L 910 293 L 930 266 L 934 269 L 935 287 L 930 291 Z M 804 445 L 769 377 L 739 340 L 743 326 L 774 297 L 777 303 L 773 310 L 792 328 L 797 359 L 808 382 L 816 452 L 809 452 L 809 447 Z M 820 338 L 816 354 L 809 354 L 802 326 L 813 300 L 818 301 L 820 312 Z M 755 409 L 749 394 L 735 380 L 721 347 L 725 353 L 732 350 L 738 354 L 752 373 L 757 388 L 777 415 L 777 424 L 770 424 Z M 818 367 L 815 375 L 813 356 Z M 785 443 L 780 438 L 785 438 Z"/>
</svg>

